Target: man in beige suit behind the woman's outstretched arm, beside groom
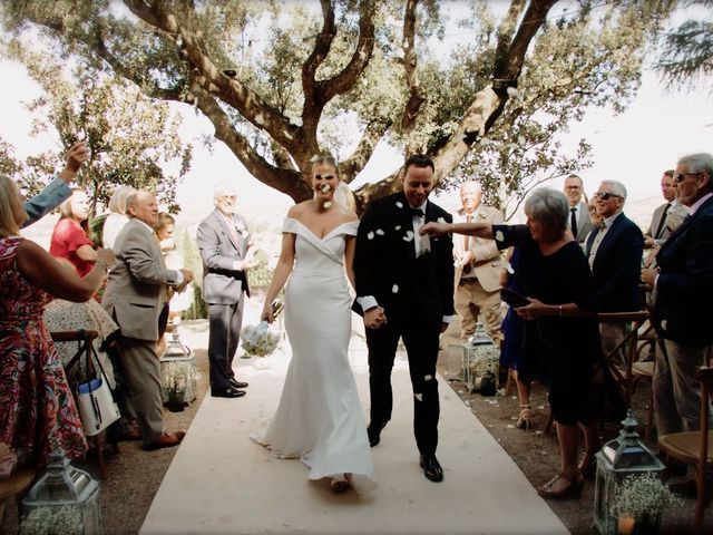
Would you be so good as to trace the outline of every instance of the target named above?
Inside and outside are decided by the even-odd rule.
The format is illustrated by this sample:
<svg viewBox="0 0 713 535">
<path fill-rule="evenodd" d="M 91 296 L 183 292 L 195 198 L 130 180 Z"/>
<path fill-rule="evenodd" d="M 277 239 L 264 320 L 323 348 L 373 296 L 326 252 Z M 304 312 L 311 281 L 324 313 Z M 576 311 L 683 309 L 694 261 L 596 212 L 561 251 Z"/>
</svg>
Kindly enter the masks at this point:
<svg viewBox="0 0 713 535">
<path fill-rule="evenodd" d="M 469 181 L 460 186 L 462 207 L 453 214 L 453 223 L 502 223 L 499 210 L 484 206 L 480 184 Z M 453 236 L 456 259 L 456 311 L 460 314 L 460 338 L 468 340 L 476 331 L 478 314 L 486 332 L 498 343 L 502 340 L 500 323 L 500 271 L 502 257 L 492 240 Z"/>
</svg>

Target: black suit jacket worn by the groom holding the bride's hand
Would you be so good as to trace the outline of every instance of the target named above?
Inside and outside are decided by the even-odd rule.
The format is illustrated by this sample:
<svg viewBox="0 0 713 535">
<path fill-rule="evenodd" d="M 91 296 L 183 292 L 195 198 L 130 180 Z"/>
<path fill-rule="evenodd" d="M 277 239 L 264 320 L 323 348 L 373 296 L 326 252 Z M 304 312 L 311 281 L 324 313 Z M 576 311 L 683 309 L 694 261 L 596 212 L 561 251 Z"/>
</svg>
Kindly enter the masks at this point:
<svg viewBox="0 0 713 535">
<path fill-rule="evenodd" d="M 424 220 L 450 223 L 452 216 L 429 201 Z M 440 331 L 443 315 L 455 314 L 452 240 L 431 239 L 430 253 L 417 259 L 413 240 L 419 236 L 404 240 L 409 231 L 413 232 L 412 215 L 403 193 L 369 205 L 356 236 L 356 295 L 373 295 L 389 322 L 419 315 Z M 362 313 L 359 304 L 354 310 Z"/>
</svg>

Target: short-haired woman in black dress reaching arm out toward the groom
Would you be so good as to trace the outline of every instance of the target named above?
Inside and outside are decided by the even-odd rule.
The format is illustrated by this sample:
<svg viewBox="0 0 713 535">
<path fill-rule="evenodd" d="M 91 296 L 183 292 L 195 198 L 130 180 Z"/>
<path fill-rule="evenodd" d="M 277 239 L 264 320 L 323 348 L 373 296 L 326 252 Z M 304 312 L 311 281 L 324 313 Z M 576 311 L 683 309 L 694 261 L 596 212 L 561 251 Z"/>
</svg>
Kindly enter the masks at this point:
<svg viewBox="0 0 713 535">
<path fill-rule="evenodd" d="M 528 366 L 541 367 L 549 381 L 549 405 L 557 422 L 560 471 L 538 489 L 551 499 L 578 498 L 584 486 L 577 465 L 579 424 L 588 455 L 598 446 L 588 407 L 593 366 L 600 357 L 597 319 L 590 302 L 592 273 L 582 249 L 567 230 L 569 204 L 560 192 L 533 191 L 525 202 L 527 225 L 488 223 L 429 223 L 421 234 L 447 232 L 495 240 L 499 249 L 515 245 L 520 254 L 515 278 L 529 298 L 517 308 L 527 324 L 525 354 Z M 535 363 L 537 360 L 539 362 Z"/>
</svg>

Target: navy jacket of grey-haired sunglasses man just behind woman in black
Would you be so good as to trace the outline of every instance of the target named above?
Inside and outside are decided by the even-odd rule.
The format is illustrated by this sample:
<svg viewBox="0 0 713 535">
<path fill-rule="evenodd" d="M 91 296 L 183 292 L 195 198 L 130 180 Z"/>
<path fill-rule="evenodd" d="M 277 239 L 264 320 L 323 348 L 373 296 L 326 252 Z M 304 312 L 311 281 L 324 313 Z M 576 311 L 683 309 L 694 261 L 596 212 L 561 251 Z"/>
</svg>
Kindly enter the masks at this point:
<svg viewBox="0 0 713 535">
<path fill-rule="evenodd" d="M 587 257 L 598 228 L 587 240 Z M 604 235 L 592 265 L 593 307 L 599 312 L 627 312 L 642 308 L 638 281 L 644 234 L 632 220 L 619 214 Z"/>
</svg>

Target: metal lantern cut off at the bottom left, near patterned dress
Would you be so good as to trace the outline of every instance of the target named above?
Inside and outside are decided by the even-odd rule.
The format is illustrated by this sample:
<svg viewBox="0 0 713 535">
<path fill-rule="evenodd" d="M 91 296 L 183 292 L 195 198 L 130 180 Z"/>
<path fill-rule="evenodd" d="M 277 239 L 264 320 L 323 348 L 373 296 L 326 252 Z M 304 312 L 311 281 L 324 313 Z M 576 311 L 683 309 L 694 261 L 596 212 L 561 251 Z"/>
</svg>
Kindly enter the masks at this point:
<svg viewBox="0 0 713 535">
<path fill-rule="evenodd" d="M 53 453 L 47 470 L 22 499 L 22 534 L 96 535 L 101 533 L 99 484 Z"/>
</svg>

